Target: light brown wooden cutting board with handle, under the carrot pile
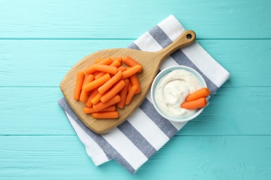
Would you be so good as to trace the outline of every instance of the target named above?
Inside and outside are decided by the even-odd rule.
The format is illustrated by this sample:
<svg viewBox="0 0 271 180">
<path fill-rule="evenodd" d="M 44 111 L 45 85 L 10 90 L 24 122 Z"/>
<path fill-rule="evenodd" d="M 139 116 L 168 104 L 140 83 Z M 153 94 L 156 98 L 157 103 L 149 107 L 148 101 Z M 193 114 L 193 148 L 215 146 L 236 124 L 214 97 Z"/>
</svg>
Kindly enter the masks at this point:
<svg viewBox="0 0 271 180">
<path fill-rule="evenodd" d="M 60 89 L 69 103 L 69 106 L 72 107 L 74 113 L 81 119 L 81 121 L 97 134 L 104 134 L 124 122 L 124 120 L 126 120 L 133 111 L 139 107 L 140 103 L 147 95 L 147 92 L 151 87 L 151 83 L 158 72 L 159 66 L 161 62 L 165 60 L 165 57 L 179 48 L 192 44 L 192 42 L 195 41 L 195 38 L 196 35 L 192 30 L 186 30 L 172 44 L 158 52 L 145 52 L 129 48 L 113 48 L 97 51 L 96 53 L 92 53 L 84 57 L 83 60 L 76 63 L 72 69 L 69 70 L 67 75 L 65 75 L 65 78 L 63 78 L 63 81 L 60 83 Z M 125 57 L 126 55 L 129 55 L 143 66 L 142 72 L 138 73 L 141 92 L 133 97 L 129 106 L 126 106 L 124 109 L 117 109 L 120 114 L 117 119 L 95 119 L 92 118 L 90 114 L 84 114 L 83 107 L 85 107 L 85 104 L 74 100 L 74 86 L 76 83 L 77 73 L 79 71 L 84 71 L 84 69 L 90 64 L 94 64 L 97 59 L 106 57 Z M 144 123 L 144 120 L 142 120 L 142 123 Z"/>
</svg>

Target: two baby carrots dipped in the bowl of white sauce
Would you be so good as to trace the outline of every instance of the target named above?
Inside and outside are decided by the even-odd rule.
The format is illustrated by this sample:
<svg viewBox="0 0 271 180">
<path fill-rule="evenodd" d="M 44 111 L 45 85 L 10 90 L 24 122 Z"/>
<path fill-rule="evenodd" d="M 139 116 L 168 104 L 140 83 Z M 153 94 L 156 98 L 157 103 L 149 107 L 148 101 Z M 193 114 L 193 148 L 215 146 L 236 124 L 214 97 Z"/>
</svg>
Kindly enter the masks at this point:
<svg viewBox="0 0 271 180">
<path fill-rule="evenodd" d="M 190 95 L 186 97 L 186 102 L 183 102 L 181 104 L 181 108 L 198 109 L 198 108 L 205 107 L 207 105 L 206 97 L 209 94 L 210 94 L 210 91 L 206 87 L 199 89 L 193 93 L 190 93 Z"/>
</svg>

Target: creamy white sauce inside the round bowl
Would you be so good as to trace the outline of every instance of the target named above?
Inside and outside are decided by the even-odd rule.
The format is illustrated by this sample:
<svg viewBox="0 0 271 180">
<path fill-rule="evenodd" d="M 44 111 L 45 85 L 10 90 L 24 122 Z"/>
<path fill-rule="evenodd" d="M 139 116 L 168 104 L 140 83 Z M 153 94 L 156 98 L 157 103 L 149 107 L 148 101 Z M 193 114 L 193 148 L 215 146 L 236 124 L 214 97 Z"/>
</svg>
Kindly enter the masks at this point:
<svg viewBox="0 0 271 180">
<path fill-rule="evenodd" d="M 183 109 L 181 104 L 190 93 L 201 88 L 202 84 L 193 73 L 176 69 L 161 78 L 156 86 L 154 97 L 164 114 L 173 118 L 183 118 L 194 114 L 197 110 Z"/>
</svg>

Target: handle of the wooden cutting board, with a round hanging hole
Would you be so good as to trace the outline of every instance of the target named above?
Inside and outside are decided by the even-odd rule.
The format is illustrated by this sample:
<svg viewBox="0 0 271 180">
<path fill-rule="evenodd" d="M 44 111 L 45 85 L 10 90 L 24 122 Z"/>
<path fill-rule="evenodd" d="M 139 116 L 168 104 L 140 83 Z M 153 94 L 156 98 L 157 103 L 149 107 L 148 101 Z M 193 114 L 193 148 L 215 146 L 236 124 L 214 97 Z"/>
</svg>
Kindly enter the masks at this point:
<svg viewBox="0 0 271 180">
<path fill-rule="evenodd" d="M 171 55 L 177 49 L 184 48 L 195 42 L 195 39 L 196 33 L 192 30 L 186 30 L 172 44 L 158 51 L 157 54 L 161 56 L 161 60 L 164 60 L 165 57 Z"/>
</svg>

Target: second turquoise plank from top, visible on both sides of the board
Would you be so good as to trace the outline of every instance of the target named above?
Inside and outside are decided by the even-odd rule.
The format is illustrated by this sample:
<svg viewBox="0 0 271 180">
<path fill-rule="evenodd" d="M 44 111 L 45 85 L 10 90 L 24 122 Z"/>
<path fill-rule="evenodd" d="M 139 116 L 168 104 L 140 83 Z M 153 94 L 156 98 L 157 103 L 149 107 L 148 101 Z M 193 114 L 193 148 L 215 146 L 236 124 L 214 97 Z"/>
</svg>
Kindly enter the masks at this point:
<svg viewBox="0 0 271 180">
<path fill-rule="evenodd" d="M 0 41 L 0 87 L 58 87 L 86 55 L 131 40 Z M 230 73 L 224 87 L 271 87 L 271 40 L 199 40 Z"/>
</svg>

